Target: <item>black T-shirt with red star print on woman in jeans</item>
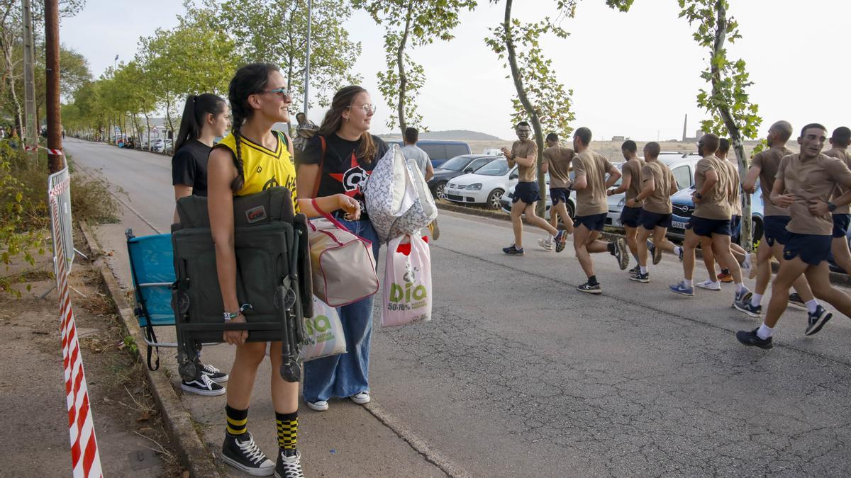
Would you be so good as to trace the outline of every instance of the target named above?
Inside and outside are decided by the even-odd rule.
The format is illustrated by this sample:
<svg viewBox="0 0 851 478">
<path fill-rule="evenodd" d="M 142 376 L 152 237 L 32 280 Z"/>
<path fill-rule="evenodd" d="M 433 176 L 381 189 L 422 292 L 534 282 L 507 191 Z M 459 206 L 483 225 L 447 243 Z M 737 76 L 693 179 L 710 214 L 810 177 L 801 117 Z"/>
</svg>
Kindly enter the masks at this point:
<svg viewBox="0 0 851 478">
<path fill-rule="evenodd" d="M 316 135 L 308 139 L 305 151 L 295 151 L 295 163 L 298 165 L 322 162 L 319 190 L 316 196 L 343 193 L 360 201 L 361 210 L 366 211 L 366 208 L 363 207 L 363 192 L 360 191 L 358 185 L 369 176 L 381 156 L 384 156 L 390 149 L 384 139 L 375 135 L 372 135 L 372 139 L 376 147 L 375 156 L 369 158 L 370 161 L 366 161 L 364 158 L 357 157 L 362 139 L 349 141 L 340 138 L 337 134 L 331 134 L 325 139 L 325 159 L 323 161 L 322 141 Z M 311 196 L 312 192 L 303 191 L 300 196 L 308 197 Z M 361 216 L 362 219 L 364 217 L 365 215 Z"/>
</svg>

